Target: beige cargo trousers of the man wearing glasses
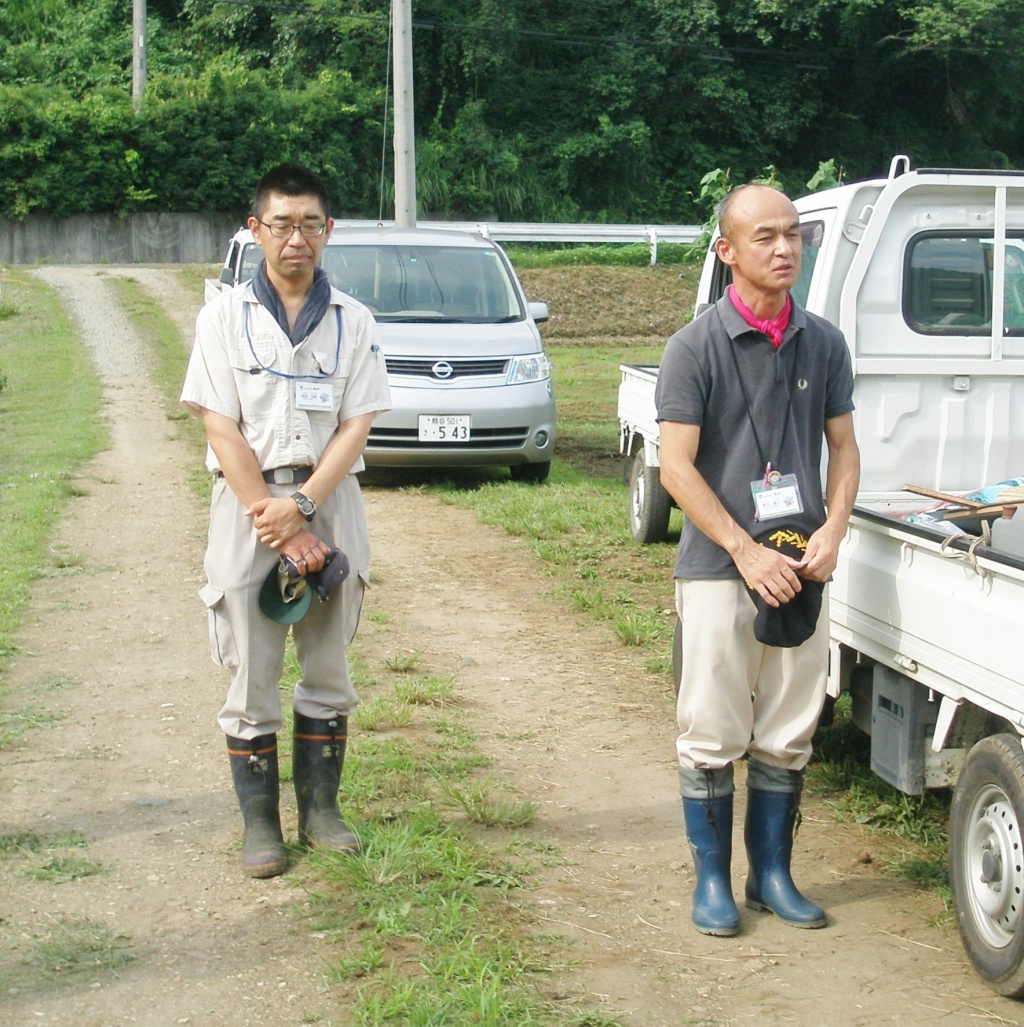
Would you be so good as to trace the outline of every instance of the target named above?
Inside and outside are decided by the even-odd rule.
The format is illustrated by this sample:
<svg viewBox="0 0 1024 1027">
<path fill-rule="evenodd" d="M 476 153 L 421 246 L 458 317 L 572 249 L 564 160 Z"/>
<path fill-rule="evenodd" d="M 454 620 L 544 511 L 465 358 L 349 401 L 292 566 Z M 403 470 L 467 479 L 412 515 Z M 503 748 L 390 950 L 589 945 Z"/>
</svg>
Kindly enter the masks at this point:
<svg viewBox="0 0 1024 1027">
<path fill-rule="evenodd" d="M 294 486 L 270 486 L 275 496 Z M 310 530 L 329 545 L 343 549 L 350 572 L 326 603 L 315 596 L 309 612 L 291 625 L 301 678 L 294 709 L 327 720 L 349 716 L 358 705 L 345 658 L 355 637 L 363 593 L 369 579 L 370 542 L 358 481 L 346 478 L 317 506 Z M 214 483 L 210 506 L 210 542 L 204 569 L 207 583 L 199 595 L 207 608 L 214 662 L 230 673 L 227 697 L 218 715 L 225 734 L 255 738 L 281 727 L 278 683 L 285 667 L 288 624 L 267 617 L 259 593 L 277 565 L 277 553 L 256 537 L 252 519 L 224 479 Z"/>
</svg>

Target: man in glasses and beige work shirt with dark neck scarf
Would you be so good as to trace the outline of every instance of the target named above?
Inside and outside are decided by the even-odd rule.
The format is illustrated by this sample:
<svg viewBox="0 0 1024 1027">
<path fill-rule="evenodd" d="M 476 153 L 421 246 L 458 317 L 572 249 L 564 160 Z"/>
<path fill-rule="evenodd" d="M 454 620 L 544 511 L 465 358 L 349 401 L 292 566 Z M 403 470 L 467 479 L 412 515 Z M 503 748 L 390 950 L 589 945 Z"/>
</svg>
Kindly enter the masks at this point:
<svg viewBox="0 0 1024 1027">
<path fill-rule="evenodd" d="M 271 877 L 288 865 L 277 686 L 289 623 L 263 612 L 260 591 L 282 557 L 303 578 L 335 549 L 348 559 L 341 584 L 292 624 L 302 672 L 293 770 L 300 844 L 355 848 L 337 806 L 347 718 L 358 702 L 345 646 L 370 557 L 355 472 L 374 416 L 391 403 L 373 315 L 319 267 L 333 226 L 319 179 L 301 164 L 271 168 L 248 224 L 264 262 L 252 281 L 200 311 L 181 402 L 202 420 L 216 476 L 200 595 L 214 660 L 230 672 L 218 722 L 244 820 L 242 869 Z"/>
</svg>

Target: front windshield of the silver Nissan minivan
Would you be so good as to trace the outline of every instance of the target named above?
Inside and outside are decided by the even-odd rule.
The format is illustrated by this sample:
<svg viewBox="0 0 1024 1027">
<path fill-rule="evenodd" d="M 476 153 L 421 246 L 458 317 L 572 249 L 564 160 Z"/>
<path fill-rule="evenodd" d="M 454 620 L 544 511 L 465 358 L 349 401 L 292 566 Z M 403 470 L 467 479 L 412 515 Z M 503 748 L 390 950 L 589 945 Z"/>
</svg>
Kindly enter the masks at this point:
<svg viewBox="0 0 1024 1027">
<path fill-rule="evenodd" d="M 380 322 L 495 324 L 524 316 L 507 268 L 479 246 L 328 245 L 331 283 Z"/>
</svg>

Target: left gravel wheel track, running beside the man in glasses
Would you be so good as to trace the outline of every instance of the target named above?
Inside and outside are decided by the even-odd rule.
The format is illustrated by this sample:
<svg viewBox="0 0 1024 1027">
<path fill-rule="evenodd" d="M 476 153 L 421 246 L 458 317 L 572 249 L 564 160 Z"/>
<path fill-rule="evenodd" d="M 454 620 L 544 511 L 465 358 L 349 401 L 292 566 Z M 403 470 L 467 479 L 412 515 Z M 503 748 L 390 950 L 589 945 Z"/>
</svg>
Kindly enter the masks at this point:
<svg viewBox="0 0 1024 1027">
<path fill-rule="evenodd" d="M 55 720 L 0 751 L 3 831 L 79 833 L 105 872 L 50 884 L 25 876 L 29 861 L 0 862 L 0 1023 L 331 1023 L 318 944 L 297 915 L 303 892 L 236 869 L 240 817 L 215 722 L 224 682 L 196 598 L 205 512 L 187 486 L 194 457 L 106 281 L 127 273 L 169 292 L 174 276 L 36 273 L 93 354 L 112 447 L 83 468 L 83 495 L 54 533 L 75 572 L 38 583 L 18 640 L 4 705 Z M 183 324 L 190 306 L 176 305 Z M 135 958 L 54 986 L 34 962 L 62 939 L 124 944 Z"/>
</svg>

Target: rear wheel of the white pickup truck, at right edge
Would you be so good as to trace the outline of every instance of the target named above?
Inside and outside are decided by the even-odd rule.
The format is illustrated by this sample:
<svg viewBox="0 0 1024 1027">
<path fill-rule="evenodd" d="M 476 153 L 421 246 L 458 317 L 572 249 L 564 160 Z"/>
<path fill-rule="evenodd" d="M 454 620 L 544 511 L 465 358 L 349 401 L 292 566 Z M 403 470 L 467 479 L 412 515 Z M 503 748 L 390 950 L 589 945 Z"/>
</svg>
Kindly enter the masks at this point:
<svg viewBox="0 0 1024 1027">
<path fill-rule="evenodd" d="M 949 815 L 949 880 L 963 947 L 1008 998 L 1024 996 L 1024 752 L 993 734 L 968 754 Z"/>
</svg>

